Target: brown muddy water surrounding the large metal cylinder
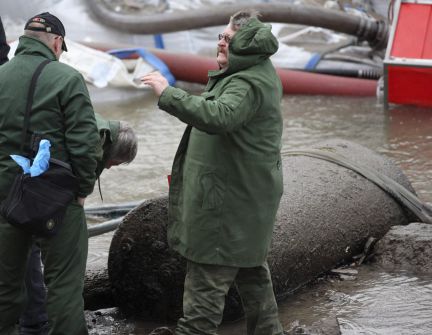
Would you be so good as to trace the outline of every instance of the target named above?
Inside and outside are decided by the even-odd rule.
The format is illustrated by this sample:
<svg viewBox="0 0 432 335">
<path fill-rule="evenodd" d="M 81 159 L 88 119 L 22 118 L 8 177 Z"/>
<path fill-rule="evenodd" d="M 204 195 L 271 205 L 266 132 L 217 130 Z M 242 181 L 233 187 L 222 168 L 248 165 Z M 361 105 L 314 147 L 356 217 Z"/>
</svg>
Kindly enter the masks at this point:
<svg viewBox="0 0 432 335">
<path fill-rule="evenodd" d="M 149 92 L 140 97 L 95 104 L 105 117 L 129 121 L 137 130 L 139 152 L 129 166 L 103 173 L 104 203 L 149 199 L 168 191 L 166 175 L 184 125 L 159 111 Z M 109 99 L 109 100 L 110 100 Z M 95 101 L 106 100 L 95 99 Z M 432 204 L 432 110 L 384 111 L 375 98 L 285 96 L 283 149 L 330 138 L 348 139 L 387 155 L 404 170 L 418 196 Z M 95 192 L 87 205 L 102 204 Z M 112 234 L 90 240 L 90 264 L 106 263 Z M 353 281 L 332 280 L 296 293 L 280 305 L 285 328 L 335 316 L 342 334 L 431 334 L 432 276 L 387 273 L 370 265 Z M 136 334 L 154 324 L 136 323 Z M 242 322 L 224 325 L 221 334 L 244 334 Z"/>
</svg>

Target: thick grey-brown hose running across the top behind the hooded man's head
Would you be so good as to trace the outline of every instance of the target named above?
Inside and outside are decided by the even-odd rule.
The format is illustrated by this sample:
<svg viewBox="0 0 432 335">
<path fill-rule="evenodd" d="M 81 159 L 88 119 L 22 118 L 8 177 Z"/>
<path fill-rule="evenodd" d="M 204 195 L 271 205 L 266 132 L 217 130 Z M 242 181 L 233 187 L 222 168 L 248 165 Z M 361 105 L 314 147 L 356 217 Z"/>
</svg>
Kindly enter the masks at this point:
<svg viewBox="0 0 432 335">
<path fill-rule="evenodd" d="M 135 34 L 158 34 L 226 25 L 229 17 L 245 5 L 206 6 L 205 8 L 164 14 L 120 14 L 101 0 L 87 0 L 99 21 L 109 27 Z M 384 49 L 388 27 L 384 21 L 349 15 L 316 6 L 285 3 L 254 4 L 265 22 L 281 22 L 322 27 L 366 40 L 375 49 Z"/>
</svg>

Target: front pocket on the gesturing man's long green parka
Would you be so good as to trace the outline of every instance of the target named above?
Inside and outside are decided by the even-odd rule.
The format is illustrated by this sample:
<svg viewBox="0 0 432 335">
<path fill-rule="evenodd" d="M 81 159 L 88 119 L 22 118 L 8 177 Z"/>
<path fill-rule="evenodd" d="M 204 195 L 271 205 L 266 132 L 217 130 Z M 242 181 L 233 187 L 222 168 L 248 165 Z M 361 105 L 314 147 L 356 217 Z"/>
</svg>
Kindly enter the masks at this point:
<svg viewBox="0 0 432 335">
<path fill-rule="evenodd" d="M 221 207 L 225 200 L 225 178 L 216 172 L 207 172 L 200 177 L 202 209 L 212 210 Z"/>
</svg>

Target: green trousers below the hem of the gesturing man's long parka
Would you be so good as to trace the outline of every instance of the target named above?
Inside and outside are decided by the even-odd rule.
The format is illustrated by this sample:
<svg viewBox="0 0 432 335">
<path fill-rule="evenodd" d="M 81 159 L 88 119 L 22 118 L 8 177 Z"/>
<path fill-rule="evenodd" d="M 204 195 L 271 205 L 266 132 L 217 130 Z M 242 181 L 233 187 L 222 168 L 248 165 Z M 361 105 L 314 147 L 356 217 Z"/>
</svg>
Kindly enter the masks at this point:
<svg viewBox="0 0 432 335">
<path fill-rule="evenodd" d="M 246 315 L 247 335 L 282 335 L 267 262 L 253 268 L 198 264 L 188 261 L 183 318 L 176 335 L 216 334 L 225 296 L 235 282 Z"/>
</svg>

